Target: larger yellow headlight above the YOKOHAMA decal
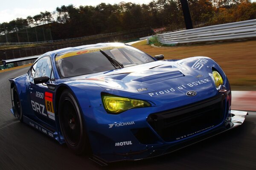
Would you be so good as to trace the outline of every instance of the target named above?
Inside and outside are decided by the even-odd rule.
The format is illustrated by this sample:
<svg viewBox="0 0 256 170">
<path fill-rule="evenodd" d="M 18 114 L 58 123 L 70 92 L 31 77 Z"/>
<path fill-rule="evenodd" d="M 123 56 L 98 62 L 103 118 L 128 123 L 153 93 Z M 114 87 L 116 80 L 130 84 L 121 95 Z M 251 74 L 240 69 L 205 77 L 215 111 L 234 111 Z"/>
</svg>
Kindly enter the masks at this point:
<svg viewBox="0 0 256 170">
<path fill-rule="evenodd" d="M 125 97 L 113 96 L 109 94 L 102 95 L 102 101 L 106 111 L 110 113 L 121 113 L 131 108 L 149 107 L 149 102 Z"/>
</svg>

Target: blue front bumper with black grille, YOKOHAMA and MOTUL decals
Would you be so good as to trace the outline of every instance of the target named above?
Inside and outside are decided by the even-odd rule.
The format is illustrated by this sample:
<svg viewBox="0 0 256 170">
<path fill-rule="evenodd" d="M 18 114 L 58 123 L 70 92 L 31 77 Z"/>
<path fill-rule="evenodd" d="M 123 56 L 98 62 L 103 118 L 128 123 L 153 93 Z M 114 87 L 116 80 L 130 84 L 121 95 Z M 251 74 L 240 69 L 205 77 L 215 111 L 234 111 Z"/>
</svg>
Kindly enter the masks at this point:
<svg viewBox="0 0 256 170">
<path fill-rule="evenodd" d="M 94 158 L 114 162 L 160 156 L 244 122 L 247 112 L 231 112 L 230 90 L 205 89 L 196 89 L 194 98 L 183 91 L 150 98 L 151 107 L 117 115 L 106 113 L 103 107 L 83 110 Z M 138 98 L 146 100 L 148 94 Z"/>
</svg>

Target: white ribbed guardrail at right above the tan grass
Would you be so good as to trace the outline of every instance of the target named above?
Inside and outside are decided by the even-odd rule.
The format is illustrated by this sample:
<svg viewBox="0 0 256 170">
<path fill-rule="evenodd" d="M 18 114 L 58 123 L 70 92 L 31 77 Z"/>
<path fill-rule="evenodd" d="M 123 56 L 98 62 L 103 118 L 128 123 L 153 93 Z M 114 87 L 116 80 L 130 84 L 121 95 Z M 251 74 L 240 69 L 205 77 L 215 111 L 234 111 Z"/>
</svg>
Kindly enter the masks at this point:
<svg viewBox="0 0 256 170">
<path fill-rule="evenodd" d="M 158 34 L 157 40 L 162 44 L 168 45 L 191 42 L 212 42 L 249 37 L 256 37 L 256 20 Z"/>
</svg>

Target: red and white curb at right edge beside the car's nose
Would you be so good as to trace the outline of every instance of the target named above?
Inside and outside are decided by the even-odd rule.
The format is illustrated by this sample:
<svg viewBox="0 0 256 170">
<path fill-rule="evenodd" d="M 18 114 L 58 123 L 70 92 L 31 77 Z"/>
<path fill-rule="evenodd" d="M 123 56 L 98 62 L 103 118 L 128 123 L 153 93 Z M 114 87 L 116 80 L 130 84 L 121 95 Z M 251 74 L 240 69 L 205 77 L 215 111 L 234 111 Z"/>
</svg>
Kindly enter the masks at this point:
<svg viewBox="0 0 256 170">
<path fill-rule="evenodd" d="M 232 91 L 232 110 L 256 111 L 256 91 Z"/>
</svg>

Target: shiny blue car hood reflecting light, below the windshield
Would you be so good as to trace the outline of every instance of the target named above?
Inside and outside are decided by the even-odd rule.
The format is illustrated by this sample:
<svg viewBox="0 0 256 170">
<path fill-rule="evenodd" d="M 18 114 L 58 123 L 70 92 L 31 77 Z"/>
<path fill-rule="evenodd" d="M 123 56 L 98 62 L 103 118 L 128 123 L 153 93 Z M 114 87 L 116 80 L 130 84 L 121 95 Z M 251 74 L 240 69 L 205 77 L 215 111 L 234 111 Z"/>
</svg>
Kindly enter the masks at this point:
<svg viewBox="0 0 256 170">
<path fill-rule="evenodd" d="M 212 88 L 214 82 L 210 75 L 215 62 L 207 58 L 208 65 L 193 69 L 192 65 L 201 57 L 182 60 L 163 60 L 135 65 L 127 68 L 72 77 L 73 80 L 89 80 L 102 87 L 106 92 L 132 96 L 155 91 L 196 88 Z M 162 93 L 162 92 L 160 92 Z M 155 94 L 157 95 L 157 94 Z"/>
</svg>

